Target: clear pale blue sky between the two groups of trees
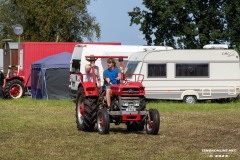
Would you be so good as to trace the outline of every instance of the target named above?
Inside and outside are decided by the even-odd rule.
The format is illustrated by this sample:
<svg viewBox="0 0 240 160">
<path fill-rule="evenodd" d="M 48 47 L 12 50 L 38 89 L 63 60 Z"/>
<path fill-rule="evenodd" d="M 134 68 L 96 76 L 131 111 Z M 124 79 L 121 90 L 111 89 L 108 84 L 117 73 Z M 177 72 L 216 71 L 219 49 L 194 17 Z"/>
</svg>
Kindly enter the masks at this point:
<svg viewBox="0 0 240 160">
<path fill-rule="evenodd" d="M 123 45 L 146 45 L 140 26 L 130 26 L 128 12 L 144 8 L 141 0 L 95 0 L 88 11 L 101 26 L 100 42 L 121 42 Z M 96 39 L 94 41 L 97 41 Z"/>
</svg>

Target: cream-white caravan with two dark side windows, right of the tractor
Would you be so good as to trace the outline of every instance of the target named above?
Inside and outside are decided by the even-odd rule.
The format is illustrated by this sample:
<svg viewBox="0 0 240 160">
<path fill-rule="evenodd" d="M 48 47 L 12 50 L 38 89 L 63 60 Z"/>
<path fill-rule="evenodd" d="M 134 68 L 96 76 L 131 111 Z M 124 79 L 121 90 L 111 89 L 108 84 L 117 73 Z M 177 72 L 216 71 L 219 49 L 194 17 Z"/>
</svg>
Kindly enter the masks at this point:
<svg viewBox="0 0 240 160">
<path fill-rule="evenodd" d="M 239 55 L 234 50 L 138 52 L 130 56 L 125 73 L 144 75 L 148 99 L 195 103 L 236 98 L 240 93 Z"/>
</svg>

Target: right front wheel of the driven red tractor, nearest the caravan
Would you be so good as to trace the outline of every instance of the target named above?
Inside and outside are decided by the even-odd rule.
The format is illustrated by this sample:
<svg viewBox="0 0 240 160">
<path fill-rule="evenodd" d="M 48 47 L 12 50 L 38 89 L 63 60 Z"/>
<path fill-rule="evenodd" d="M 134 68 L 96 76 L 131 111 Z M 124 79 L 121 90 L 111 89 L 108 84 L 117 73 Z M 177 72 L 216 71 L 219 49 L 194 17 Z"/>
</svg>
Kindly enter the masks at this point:
<svg viewBox="0 0 240 160">
<path fill-rule="evenodd" d="M 160 127 L 160 114 L 156 109 L 149 110 L 149 117 L 146 120 L 147 134 L 156 135 Z"/>
</svg>

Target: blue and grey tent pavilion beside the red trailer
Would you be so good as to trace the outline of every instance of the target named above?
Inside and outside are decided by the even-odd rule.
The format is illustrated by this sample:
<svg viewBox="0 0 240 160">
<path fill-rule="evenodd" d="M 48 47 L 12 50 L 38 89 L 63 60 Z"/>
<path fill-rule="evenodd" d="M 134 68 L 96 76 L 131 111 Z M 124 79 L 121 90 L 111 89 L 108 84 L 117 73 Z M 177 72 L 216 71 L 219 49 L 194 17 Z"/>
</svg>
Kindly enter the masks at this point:
<svg viewBox="0 0 240 160">
<path fill-rule="evenodd" d="M 71 53 L 63 52 L 31 64 L 31 94 L 36 99 L 69 99 Z"/>
</svg>

